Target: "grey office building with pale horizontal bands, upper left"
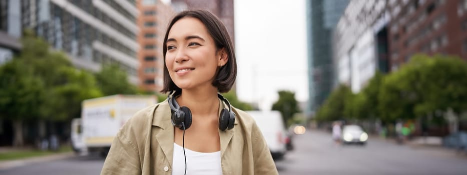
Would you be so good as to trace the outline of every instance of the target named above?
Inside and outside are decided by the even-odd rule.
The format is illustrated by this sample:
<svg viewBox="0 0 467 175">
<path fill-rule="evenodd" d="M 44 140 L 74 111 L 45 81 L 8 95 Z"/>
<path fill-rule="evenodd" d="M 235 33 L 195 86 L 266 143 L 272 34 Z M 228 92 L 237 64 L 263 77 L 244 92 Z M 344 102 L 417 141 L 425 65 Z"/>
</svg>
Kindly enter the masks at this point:
<svg viewBox="0 0 467 175">
<path fill-rule="evenodd" d="M 139 11 L 135 0 L 21 0 L 23 28 L 33 29 L 79 68 L 115 63 L 138 83 Z"/>
</svg>

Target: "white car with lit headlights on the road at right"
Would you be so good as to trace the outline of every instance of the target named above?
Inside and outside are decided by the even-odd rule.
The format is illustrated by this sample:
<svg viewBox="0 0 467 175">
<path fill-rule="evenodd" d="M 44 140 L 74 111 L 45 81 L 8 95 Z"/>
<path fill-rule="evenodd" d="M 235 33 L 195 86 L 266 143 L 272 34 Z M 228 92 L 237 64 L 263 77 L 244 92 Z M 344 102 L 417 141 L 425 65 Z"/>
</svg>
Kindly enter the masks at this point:
<svg viewBox="0 0 467 175">
<path fill-rule="evenodd" d="M 359 125 L 344 125 L 342 128 L 342 143 L 358 143 L 366 144 L 368 140 L 368 134 L 363 131 Z"/>
</svg>

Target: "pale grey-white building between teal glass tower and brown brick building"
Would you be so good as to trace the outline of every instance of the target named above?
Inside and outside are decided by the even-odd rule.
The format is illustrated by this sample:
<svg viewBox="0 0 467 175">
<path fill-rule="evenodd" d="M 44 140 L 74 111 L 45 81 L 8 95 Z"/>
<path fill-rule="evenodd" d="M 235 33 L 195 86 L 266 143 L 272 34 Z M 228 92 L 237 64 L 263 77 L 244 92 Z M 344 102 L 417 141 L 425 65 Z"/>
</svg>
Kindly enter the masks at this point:
<svg viewBox="0 0 467 175">
<path fill-rule="evenodd" d="M 335 83 L 359 92 L 376 71 L 388 71 L 384 0 L 351 0 L 333 33 Z"/>
</svg>

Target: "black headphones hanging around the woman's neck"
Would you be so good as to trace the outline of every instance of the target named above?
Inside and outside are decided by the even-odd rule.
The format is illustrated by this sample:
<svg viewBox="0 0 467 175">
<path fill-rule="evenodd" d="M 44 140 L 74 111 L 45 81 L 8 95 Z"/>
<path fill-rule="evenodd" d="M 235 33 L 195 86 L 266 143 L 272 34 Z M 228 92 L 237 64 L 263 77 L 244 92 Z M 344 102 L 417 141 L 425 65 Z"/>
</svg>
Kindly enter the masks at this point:
<svg viewBox="0 0 467 175">
<path fill-rule="evenodd" d="M 186 106 L 180 107 L 180 105 L 177 103 L 177 100 L 175 100 L 175 96 L 178 96 L 181 93 L 181 91 L 172 92 L 172 95 L 169 94 L 168 101 L 170 111 L 172 112 L 172 124 L 175 127 L 183 130 L 183 128 L 188 129 L 190 127 L 192 116 L 190 108 Z M 219 116 L 219 129 L 232 129 L 235 123 L 235 112 L 231 112 L 232 107 L 229 100 L 224 98 L 224 96 L 222 96 L 220 93 L 217 93 L 217 96 L 229 106 L 229 109 L 223 108 L 221 110 L 221 114 Z"/>
</svg>

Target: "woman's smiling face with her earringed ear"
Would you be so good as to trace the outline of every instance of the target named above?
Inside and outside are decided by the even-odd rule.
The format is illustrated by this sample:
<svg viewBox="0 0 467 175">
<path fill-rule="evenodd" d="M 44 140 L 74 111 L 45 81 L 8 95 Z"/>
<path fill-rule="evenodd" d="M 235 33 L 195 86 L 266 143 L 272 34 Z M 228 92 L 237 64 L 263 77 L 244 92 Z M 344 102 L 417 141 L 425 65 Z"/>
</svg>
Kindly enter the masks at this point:
<svg viewBox="0 0 467 175">
<path fill-rule="evenodd" d="M 169 31 L 165 63 L 182 89 L 212 86 L 217 67 L 227 62 L 226 55 L 224 49 L 216 51 L 214 39 L 197 18 L 181 18 Z"/>
</svg>

